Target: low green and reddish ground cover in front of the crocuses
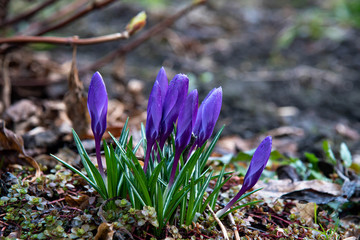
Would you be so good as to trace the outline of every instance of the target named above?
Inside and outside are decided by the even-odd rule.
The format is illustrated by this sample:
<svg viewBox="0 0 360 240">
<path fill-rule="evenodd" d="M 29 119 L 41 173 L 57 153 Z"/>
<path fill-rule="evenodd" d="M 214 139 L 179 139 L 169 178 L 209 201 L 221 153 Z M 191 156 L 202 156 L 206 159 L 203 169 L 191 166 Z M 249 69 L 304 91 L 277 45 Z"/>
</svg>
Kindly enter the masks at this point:
<svg viewBox="0 0 360 240">
<path fill-rule="evenodd" d="M 128 200 L 117 199 L 116 208 L 106 210 L 101 197 L 70 170 L 59 165 L 43 169 L 34 181 L 31 170 L 22 167 L 2 176 L 0 226 L 5 239 L 223 239 L 209 211 L 190 226 L 167 225 L 156 238 L 153 209 L 133 209 Z M 230 184 L 223 193 L 231 196 L 235 189 Z M 256 196 L 244 201 L 251 200 Z M 355 225 L 342 227 L 322 207 L 316 222 L 305 222 L 298 211 L 292 211 L 295 207 L 291 200 L 262 202 L 235 211 L 222 223 L 230 239 L 236 234 L 240 239 L 344 239 L 351 228 L 355 233 Z"/>
</svg>

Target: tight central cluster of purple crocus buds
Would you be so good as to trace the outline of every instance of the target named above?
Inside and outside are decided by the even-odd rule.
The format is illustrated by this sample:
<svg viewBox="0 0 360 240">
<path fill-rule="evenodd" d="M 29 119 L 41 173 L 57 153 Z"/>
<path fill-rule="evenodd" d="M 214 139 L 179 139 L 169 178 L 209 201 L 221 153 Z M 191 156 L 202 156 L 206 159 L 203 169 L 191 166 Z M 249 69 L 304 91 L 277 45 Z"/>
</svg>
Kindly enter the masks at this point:
<svg viewBox="0 0 360 240">
<path fill-rule="evenodd" d="M 193 150 L 196 146 L 201 147 L 210 138 L 221 109 L 221 87 L 210 91 L 198 108 L 198 92 L 193 90 L 188 94 L 188 86 L 189 79 L 184 74 L 175 75 L 168 84 L 165 70 L 161 68 L 148 102 L 145 172 L 151 153 L 162 151 L 166 140 L 174 130 L 174 124 L 177 122 L 170 185 L 174 181 L 181 154 L 187 148 Z M 192 135 L 196 137 L 196 141 L 194 145 L 189 146 Z M 157 149 L 156 143 L 160 149 Z"/>
</svg>

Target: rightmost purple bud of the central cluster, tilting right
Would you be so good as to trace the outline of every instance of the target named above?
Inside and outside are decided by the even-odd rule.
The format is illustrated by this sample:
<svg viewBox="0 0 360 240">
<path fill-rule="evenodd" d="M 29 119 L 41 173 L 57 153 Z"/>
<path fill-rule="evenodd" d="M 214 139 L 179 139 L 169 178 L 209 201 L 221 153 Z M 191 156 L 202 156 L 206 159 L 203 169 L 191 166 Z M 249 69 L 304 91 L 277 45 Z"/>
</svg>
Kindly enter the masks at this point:
<svg viewBox="0 0 360 240">
<path fill-rule="evenodd" d="M 193 128 L 194 135 L 197 137 L 196 145 L 198 147 L 201 147 L 214 131 L 216 121 L 219 118 L 221 103 L 221 87 L 211 90 L 201 103 Z"/>
</svg>

